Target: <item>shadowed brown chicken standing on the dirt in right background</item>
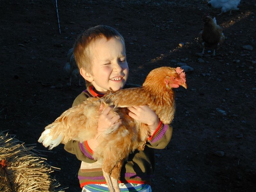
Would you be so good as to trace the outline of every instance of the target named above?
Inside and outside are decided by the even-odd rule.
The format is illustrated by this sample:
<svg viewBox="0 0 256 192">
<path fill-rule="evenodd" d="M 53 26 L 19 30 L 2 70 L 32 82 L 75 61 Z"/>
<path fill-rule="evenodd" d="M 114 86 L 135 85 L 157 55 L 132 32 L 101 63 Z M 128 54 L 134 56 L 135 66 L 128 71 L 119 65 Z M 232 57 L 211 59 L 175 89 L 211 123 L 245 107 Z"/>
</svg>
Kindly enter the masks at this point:
<svg viewBox="0 0 256 192">
<path fill-rule="evenodd" d="M 215 56 L 215 50 L 219 49 L 221 44 L 225 40 L 223 29 L 217 25 L 215 17 L 212 19 L 210 15 L 206 15 L 203 18 L 204 28 L 198 35 L 199 45 L 203 48 L 202 54 L 204 54 L 205 48 L 213 49 L 212 56 Z"/>
</svg>

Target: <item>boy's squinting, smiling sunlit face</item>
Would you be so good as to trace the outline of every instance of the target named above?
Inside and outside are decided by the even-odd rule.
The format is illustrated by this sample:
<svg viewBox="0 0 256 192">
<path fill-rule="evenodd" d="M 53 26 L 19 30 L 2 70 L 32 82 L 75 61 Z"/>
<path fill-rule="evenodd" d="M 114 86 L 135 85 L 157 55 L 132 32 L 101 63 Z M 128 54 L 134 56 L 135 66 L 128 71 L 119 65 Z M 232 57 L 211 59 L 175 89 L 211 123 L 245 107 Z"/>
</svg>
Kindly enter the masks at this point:
<svg viewBox="0 0 256 192">
<path fill-rule="evenodd" d="M 98 93 L 117 91 L 124 87 L 129 68 L 125 46 L 121 40 L 102 37 L 92 43 L 91 83 Z"/>
</svg>

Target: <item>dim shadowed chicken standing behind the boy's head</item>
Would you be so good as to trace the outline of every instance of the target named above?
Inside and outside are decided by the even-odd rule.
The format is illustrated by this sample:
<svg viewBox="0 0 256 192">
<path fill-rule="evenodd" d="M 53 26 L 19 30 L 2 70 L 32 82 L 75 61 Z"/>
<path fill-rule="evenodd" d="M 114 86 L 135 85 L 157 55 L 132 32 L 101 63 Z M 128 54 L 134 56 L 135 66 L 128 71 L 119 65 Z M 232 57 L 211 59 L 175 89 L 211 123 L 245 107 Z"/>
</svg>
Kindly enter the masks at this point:
<svg viewBox="0 0 256 192">
<path fill-rule="evenodd" d="M 76 79 L 79 78 L 79 86 L 81 86 L 81 76 L 79 69 L 76 65 L 76 60 L 73 54 L 73 48 L 69 49 L 68 54 L 67 54 L 67 60 L 68 62 L 65 64 L 63 70 L 69 78 L 69 82 L 67 83 L 69 86 L 71 85 L 71 80 L 73 77 Z"/>
</svg>

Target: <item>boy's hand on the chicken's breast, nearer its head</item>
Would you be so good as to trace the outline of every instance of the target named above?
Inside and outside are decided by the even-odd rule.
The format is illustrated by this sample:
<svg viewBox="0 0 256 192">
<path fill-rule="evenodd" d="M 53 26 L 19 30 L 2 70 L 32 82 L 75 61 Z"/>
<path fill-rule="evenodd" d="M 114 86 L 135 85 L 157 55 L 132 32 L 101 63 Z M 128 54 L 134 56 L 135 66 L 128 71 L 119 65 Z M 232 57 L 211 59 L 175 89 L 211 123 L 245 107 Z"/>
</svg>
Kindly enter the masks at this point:
<svg viewBox="0 0 256 192">
<path fill-rule="evenodd" d="M 155 111 L 149 108 L 148 105 L 139 107 L 128 107 L 128 115 L 141 123 L 148 124 L 151 135 L 156 131 L 159 125 L 159 118 Z"/>
</svg>

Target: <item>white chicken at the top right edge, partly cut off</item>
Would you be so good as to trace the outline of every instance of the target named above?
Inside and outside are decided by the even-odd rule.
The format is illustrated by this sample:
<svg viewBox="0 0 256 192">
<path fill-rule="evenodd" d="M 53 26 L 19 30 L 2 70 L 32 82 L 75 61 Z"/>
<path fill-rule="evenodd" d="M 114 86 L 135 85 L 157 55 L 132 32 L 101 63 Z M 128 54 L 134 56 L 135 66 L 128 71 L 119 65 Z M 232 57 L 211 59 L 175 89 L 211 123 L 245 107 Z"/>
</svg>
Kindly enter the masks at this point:
<svg viewBox="0 0 256 192">
<path fill-rule="evenodd" d="M 221 15 L 222 13 L 229 12 L 231 15 L 232 10 L 239 10 L 237 6 L 239 5 L 240 0 L 210 0 L 208 1 L 208 5 L 212 6 L 215 9 L 220 9 L 221 12 L 218 15 Z"/>
</svg>

